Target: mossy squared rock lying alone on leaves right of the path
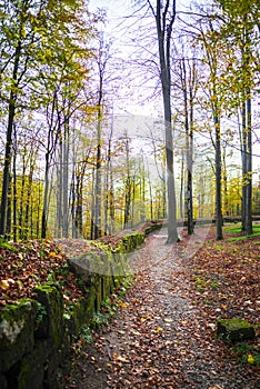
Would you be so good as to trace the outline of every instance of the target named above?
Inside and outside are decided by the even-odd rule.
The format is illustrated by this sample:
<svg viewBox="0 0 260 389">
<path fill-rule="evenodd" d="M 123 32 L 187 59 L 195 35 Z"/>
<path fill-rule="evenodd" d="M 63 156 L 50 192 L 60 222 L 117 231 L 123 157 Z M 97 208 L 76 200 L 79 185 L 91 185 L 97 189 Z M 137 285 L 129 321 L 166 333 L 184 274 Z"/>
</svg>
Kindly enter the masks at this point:
<svg viewBox="0 0 260 389">
<path fill-rule="evenodd" d="M 253 339 L 256 337 L 253 326 L 239 318 L 219 319 L 217 323 L 217 333 L 232 341 Z"/>
</svg>

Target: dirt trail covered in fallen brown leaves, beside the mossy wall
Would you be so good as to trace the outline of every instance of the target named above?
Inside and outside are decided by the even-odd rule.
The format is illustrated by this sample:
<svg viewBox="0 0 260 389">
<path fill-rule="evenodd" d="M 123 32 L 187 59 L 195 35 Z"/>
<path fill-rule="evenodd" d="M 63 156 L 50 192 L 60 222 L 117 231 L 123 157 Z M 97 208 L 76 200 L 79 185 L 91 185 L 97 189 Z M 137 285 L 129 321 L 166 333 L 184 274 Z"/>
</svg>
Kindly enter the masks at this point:
<svg viewBox="0 0 260 389">
<path fill-rule="evenodd" d="M 77 360 L 63 388 L 257 389 L 260 379 L 223 355 L 212 322 L 192 303 L 184 245 L 166 231 L 132 255 L 138 281 L 111 326 Z M 200 242 L 196 238 L 192 245 Z"/>
</svg>

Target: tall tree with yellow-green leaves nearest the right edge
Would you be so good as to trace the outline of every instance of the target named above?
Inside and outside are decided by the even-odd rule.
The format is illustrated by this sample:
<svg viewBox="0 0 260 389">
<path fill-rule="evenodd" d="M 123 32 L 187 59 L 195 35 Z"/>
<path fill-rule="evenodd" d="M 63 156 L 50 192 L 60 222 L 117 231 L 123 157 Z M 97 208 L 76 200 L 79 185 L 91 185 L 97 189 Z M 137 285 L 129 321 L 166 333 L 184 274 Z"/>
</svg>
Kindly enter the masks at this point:
<svg viewBox="0 0 260 389">
<path fill-rule="evenodd" d="M 252 90 L 259 73 L 259 4 L 256 0 L 220 0 L 222 7 L 222 37 L 232 37 L 237 48 L 230 63 L 232 82 L 236 82 L 234 106 L 241 112 L 242 160 L 242 229 L 252 233 Z"/>
</svg>

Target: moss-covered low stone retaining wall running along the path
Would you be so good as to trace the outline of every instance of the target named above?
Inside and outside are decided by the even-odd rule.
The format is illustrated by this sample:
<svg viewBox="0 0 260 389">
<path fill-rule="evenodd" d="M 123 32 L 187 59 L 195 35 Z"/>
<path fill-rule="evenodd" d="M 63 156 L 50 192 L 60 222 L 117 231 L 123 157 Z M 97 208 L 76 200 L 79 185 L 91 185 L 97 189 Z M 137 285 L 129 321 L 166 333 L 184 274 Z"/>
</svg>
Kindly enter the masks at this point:
<svg viewBox="0 0 260 389">
<path fill-rule="evenodd" d="M 160 227 L 152 226 L 151 230 Z M 68 359 L 72 341 L 99 311 L 102 300 L 122 282 L 128 272 L 124 253 L 142 243 L 147 232 L 122 237 L 114 252 L 71 258 L 88 295 L 69 308 L 59 285 L 50 283 L 36 288 L 34 299 L 21 299 L 0 312 L 1 389 L 56 388 L 57 373 Z M 94 263 L 99 263 L 97 271 Z"/>
</svg>

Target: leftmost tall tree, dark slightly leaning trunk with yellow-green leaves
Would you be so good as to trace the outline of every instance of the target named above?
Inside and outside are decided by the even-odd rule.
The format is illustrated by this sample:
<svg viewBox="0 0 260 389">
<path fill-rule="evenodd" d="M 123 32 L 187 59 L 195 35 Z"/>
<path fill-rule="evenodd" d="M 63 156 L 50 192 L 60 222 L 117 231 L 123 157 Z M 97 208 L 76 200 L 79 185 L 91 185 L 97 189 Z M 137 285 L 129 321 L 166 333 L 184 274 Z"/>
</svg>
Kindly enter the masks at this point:
<svg viewBox="0 0 260 389">
<path fill-rule="evenodd" d="M 21 96 L 20 86 L 29 69 L 31 60 L 30 49 L 36 43 L 34 22 L 31 22 L 31 1 L 2 1 L 0 3 L 1 40 L 9 42 L 9 48 L 3 47 L 1 69 L 1 98 L 7 101 L 7 140 L 4 151 L 2 196 L 0 209 L 0 236 L 6 233 L 8 192 L 10 184 L 10 166 L 12 158 L 12 136 L 18 99 Z M 34 4 L 36 6 L 36 4 Z M 9 96 L 3 92 L 9 90 Z M 6 96 L 4 96 L 6 94 Z"/>
</svg>

